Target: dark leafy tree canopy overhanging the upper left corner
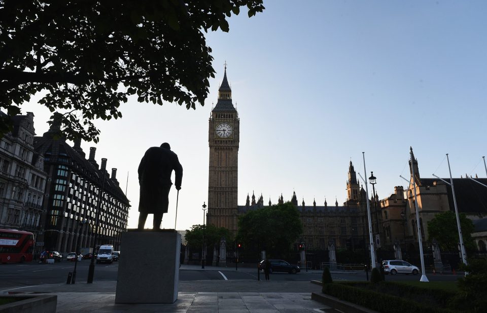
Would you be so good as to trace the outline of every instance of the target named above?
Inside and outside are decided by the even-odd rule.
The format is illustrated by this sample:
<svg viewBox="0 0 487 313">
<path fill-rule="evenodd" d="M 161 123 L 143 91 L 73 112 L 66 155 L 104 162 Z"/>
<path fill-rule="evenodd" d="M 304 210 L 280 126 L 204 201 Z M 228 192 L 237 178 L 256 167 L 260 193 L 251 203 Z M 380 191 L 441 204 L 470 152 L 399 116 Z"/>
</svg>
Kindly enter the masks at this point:
<svg viewBox="0 0 487 313">
<path fill-rule="evenodd" d="M 95 142 L 92 121 L 121 118 L 129 96 L 203 105 L 215 77 L 203 32 L 228 31 L 240 7 L 264 10 L 263 0 L 0 1 L 0 137 L 41 91 L 64 136 Z"/>
</svg>

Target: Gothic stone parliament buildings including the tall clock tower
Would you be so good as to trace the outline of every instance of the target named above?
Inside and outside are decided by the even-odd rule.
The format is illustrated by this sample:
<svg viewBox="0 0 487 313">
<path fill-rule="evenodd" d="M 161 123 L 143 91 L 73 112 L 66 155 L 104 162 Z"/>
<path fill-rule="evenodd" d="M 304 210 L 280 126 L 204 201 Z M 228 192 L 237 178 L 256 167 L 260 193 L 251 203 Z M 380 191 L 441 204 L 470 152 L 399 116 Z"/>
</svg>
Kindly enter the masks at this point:
<svg viewBox="0 0 487 313">
<path fill-rule="evenodd" d="M 208 121 L 208 144 L 210 164 L 208 175 L 208 212 L 207 222 L 217 227 L 225 227 L 233 232 L 238 228 L 238 217 L 249 210 L 265 208 L 262 195 L 247 196 L 245 205 L 237 204 L 238 194 L 238 147 L 240 138 L 240 120 L 232 104 L 232 91 L 225 72 L 218 90 L 218 101 L 212 109 Z M 410 173 L 414 169 L 414 178 L 406 189 L 395 186 L 389 197 L 379 200 L 377 194 L 370 196 L 371 228 L 375 246 L 391 248 L 399 244 L 405 249 L 418 248 L 418 236 L 428 239 L 427 222 L 438 213 L 455 211 L 451 186 L 436 178 L 421 178 L 418 160 L 412 153 L 409 160 Z M 413 180 L 416 187 L 417 204 L 413 195 Z M 449 178 L 448 178 L 449 180 Z M 486 178 L 476 178 L 477 182 L 487 184 Z M 454 178 L 458 210 L 465 213 L 474 223 L 487 215 L 487 192 L 485 188 L 471 179 Z M 300 212 L 304 233 L 301 238 L 308 250 L 326 250 L 329 243 L 337 249 L 363 247 L 368 242 L 367 194 L 360 185 L 352 161 L 346 180 L 347 200 L 340 206 L 335 200 L 328 205 L 305 205 L 304 199 L 299 204 L 296 192 L 291 196 Z M 252 199 L 252 200 L 251 200 Z M 278 203 L 284 203 L 281 194 Z M 270 200 L 268 205 L 272 205 Z M 420 231 L 416 227 L 415 208 L 420 216 Z M 421 233 L 421 234 L 419 234 Z M 476 239 L 481 250 L 485 249 L 487 238 Z"/>
</svg>

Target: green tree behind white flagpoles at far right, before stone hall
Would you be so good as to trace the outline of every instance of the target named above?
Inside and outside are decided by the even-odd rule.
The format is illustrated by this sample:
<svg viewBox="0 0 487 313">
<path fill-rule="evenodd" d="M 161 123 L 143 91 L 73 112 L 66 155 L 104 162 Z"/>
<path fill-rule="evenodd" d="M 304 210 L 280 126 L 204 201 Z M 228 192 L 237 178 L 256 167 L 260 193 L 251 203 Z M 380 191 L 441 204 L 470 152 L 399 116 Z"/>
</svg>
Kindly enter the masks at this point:
<svg viewBox="0 0 487 313">
<path fill-rule="evenodd" d="M 472 240 L 472 232 L 475 229 L 472 221 L 465 214 L 460 214 L 460 225 L 462 227 L 462 236 L 465 248 L 469 251 L 475 250 L 475 244 Z M 457 251 L 458 237 L 457 217 L 455 212 L 446 211 L 437 214 L 434 219 L 428 222 L 429 240 L 436 240 L 443 251 Z"/>
</svg>

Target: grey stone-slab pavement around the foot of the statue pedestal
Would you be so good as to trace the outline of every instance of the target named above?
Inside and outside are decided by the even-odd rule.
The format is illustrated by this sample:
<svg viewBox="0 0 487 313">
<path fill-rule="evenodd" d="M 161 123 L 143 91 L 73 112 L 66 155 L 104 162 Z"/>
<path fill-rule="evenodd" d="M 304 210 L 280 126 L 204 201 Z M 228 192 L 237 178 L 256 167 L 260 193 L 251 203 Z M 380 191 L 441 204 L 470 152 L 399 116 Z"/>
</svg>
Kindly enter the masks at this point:
<svg viewBox="0 0 487 313">
<path fill-rule="evenodd" d="M 182 270 L 228 270 L 230 267 L 182 265 Z M 256 271 L 254 268 L 238 268 Z M 308 270 L 308 272 L 322 272 Z M 303 273 L 303 271 L 301 272 Z M 304 272 L 305 273 L 305 272 Z M 263 278 L 263 275 L 262 277 Z M 117 282 L 45 284 L 3 290 L 4 294 L 57 295 L 57 312 L 337 312 L 311 300 L 321 286 L 309 281 L 202 280 L 180 281 L 178 300 L 172 304 L 116 304 Z M 299 292 L 296 292 L 299 291 Z"/>
</svg>

